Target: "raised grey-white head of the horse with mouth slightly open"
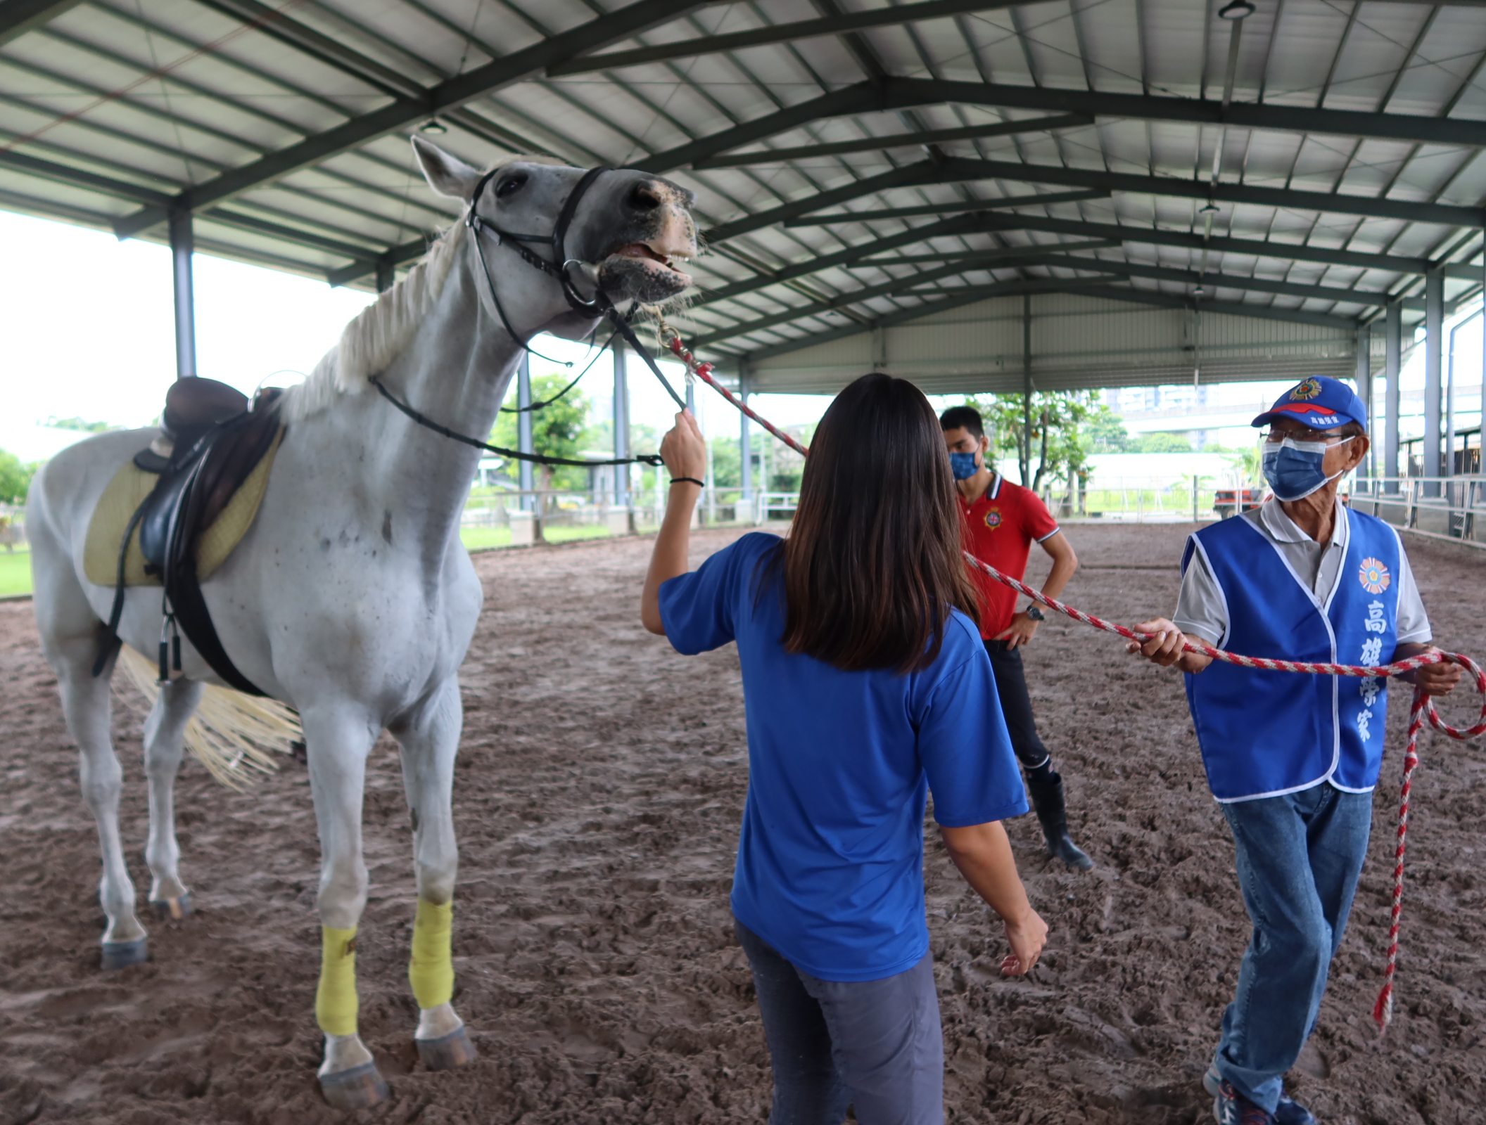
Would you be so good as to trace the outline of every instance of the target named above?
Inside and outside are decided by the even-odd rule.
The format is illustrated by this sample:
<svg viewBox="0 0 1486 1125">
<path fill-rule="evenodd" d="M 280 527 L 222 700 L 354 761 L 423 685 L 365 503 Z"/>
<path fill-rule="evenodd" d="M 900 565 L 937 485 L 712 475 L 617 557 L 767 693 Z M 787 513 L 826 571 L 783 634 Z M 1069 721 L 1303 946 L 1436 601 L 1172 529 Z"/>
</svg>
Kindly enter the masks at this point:
<svg viewBox="0 0 1486 1125">
<path fill-rule="evenodd" d="M 421 137 L 413 150 L 435 191 L 467 205 L 474 200 L 490 239 L 484 252 L 501 304 L 523 332 L 581 337 L 593 329 L 597 312 L 574 309 L 557 281 L 538 273 L 519 251 L 496 249 L 496 233 L 507 243 L 520 234 L 531 254 L 566 264 L 565 276 L 581 300 L 602 289 L 614 304 L 658 304 L 691 285 L 678 264 L 697 254 L 695 197 L 669 180 L 620 168 L 585 181 L 581 168 L 533 162 L 481 175 Z M 560 248 L 551 242 L 554 233 Z M 526 283 L 513 285 L 513 278 Z"/>
</svg>

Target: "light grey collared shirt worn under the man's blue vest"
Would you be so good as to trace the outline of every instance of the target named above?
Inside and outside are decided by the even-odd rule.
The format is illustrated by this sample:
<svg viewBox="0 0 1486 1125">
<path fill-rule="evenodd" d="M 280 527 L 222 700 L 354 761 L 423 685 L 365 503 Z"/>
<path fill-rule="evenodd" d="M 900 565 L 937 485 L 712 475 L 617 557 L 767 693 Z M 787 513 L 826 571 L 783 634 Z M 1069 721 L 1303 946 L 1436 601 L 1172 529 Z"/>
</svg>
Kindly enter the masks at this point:
<svg viewBox="0 0 1486 1125">
<path fill-rule="evenodd" d="M 1309 583 L 1317 601 L 1324 606 L 1336 586 L 1342 561 L 1346 558 L 1346 545 L 1351 542 L 1352 525 L 1346 506 L 1340 500 L 1336 502 L 1336 519 L 1331 521 L 1331 537 L 1326 543 L 1317 543 L 1302 531 L 1294 519 L 1285 515 L 1279 502 L 1274 499 L 1244 512 L 1239 518 L 1247 519 L 1275 545 L 1296 576 Z M 1219 644 L 1227 634 L 1227 606 L 1201 551 L 1193 552 L 1192 561 L 1187 564 L 1187 573 L 1181 579 L 1181 592 L 1177 595 L 1177 611 L 1171 622 L 1183 632 L 1201 637 L 1208 644 Z M 1413 580 L 1413 568 L 1409 565 L 1403 543 L 1400 543 L 1398 644 L 1425 643 L 1431 637 L 1430 617 L 1424 611 L 1424 601 L 1419 598 L 1419 588 Z"/>
</svg>

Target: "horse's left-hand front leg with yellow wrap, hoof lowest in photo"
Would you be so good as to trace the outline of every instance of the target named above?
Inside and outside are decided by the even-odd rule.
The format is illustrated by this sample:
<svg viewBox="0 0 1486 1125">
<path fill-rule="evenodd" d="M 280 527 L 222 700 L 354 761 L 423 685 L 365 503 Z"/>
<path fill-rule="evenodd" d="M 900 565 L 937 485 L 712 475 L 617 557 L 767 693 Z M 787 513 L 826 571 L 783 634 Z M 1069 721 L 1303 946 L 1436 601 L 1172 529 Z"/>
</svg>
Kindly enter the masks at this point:
<svg viewBox="0 0 1486 1125">
<path fill-rule="evenodd" d="M 315 1021 L 325 1033 L 319 1088 L 336 1109 L 364 1109 L 388 1094 L 357 1031 L 357 925 L 367 904 L 361 796 L 367 755 L 380 730 L 354 705 L 312 706 L 300 720 L 319 825 L 321 962 Z"/>
</svg>

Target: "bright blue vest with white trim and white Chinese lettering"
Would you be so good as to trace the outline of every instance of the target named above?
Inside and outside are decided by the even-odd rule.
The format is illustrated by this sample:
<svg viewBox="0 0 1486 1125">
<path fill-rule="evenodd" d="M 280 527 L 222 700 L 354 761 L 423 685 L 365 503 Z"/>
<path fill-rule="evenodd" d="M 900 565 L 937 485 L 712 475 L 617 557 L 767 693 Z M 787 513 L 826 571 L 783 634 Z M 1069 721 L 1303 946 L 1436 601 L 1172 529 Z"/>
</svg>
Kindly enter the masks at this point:
<svg viewBox="0 0 1486 1125">
<path fill-rule="evenodd" d="M 1223 519 L 1187 540 L 1227 604 L 1220 649 L 1244 656 L 1386 663 L 1398 644 L 1398 533 L 1346 511 L 1346 558 L 1330 601 L 1317 601 L 1274 543 L 1247 519 Z M 1187 675 L 1187 703 L 1208 785 L 1220 801 L 1276 797 L 1331 782 L 1348 793 L 1378 784 L 1388 686 L 1383 680 L 1266 672 L 1214 660 Z"/>
</svg>

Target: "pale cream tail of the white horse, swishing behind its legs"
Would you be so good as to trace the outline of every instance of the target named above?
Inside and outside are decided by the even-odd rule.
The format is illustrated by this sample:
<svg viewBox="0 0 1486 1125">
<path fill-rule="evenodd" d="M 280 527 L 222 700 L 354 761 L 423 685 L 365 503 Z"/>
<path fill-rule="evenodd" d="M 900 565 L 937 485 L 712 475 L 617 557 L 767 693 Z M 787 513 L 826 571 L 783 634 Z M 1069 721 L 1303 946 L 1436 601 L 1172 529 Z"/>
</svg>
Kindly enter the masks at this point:
<svg viewBox="0 0 1486 1125">
<path fill-rule="evenodd" d="M 156 663 L 125 644 L 119 649 L 117 666 L 129 687 L 144 698 L 149 712 L 160 693 Z M 186 723 L 186 748 L 211 776 L 235 790 L 276 770 L 270 751 L 287 754 L 303 736 L 299 714 L 278 699 L 215 684 L 207 684 L 196 714 Z"/>
</svg>

